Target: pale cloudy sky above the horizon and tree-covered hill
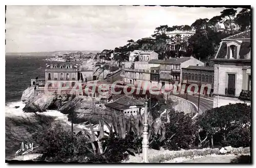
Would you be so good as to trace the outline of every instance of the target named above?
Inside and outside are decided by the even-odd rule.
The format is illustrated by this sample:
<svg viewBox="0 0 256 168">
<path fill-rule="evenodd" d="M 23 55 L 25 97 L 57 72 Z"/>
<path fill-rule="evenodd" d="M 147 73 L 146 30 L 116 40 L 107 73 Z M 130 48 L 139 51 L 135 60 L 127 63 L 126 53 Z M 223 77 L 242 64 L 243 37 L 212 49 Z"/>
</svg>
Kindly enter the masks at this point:
<svg viewBox="0 0 256 168">
<path fill-rule="evenodd" d="M 7 6 L 6 52 L 102 51 L 149 37 L 160 25 L 191 25 L 225 8 Z M 237 9 L 238 11 L 241 9 Z"/>
</svg>

